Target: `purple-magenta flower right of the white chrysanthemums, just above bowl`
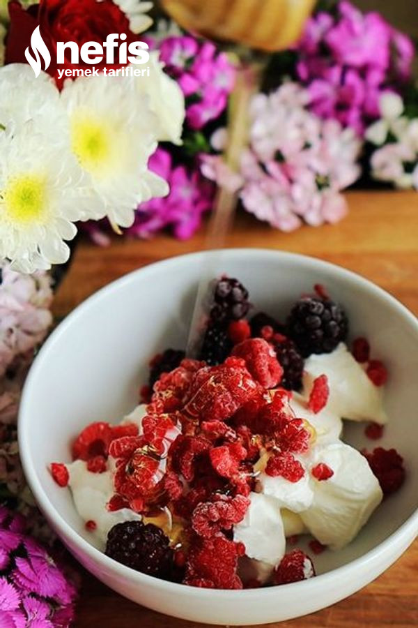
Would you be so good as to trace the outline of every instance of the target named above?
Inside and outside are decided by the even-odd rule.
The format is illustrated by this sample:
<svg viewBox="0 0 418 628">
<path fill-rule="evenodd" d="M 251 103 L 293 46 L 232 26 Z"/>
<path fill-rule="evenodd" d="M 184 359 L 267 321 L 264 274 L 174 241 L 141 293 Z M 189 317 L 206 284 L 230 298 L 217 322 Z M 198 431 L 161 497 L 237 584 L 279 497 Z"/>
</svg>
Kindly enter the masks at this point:
<svg viewBox="0 0 418 628">
<path fill-rule="evenodd" d="M 178 239 L 187 239 L 201 224 L 204 212 L 210 209 L 214 186 L 204 179 L 199 170 L 173 165 L 171 155 L 157 149 L 150 159 L 150 169 L 169 183 L 169 195 L 142 203 L 128 234 L 146 238 L 170 227 Z"/>
</svg>

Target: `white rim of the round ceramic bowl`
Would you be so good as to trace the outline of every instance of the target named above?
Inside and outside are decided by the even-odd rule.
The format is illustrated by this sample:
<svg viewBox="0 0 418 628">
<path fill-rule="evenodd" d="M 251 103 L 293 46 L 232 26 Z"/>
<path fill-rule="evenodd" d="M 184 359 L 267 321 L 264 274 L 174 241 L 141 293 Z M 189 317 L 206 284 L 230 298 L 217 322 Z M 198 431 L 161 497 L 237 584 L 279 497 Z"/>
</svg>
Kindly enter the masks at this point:
<svg viewBox="0 0 418 628">
<path fill-rule="evenodd" d="M 63 516 L 59 513 L 59 511 L 54 507 L 54 503 L 47 495 L 47 492 L 42 488 L 42 484 L 38 479 L 36 474 L 36 470 L 33 467 L 32 456 L 31 456 L 31 445 L 29 442 L 29 437 L 26 431 L 26 424 L 29 422 L 30 416 L 30 399 L 29 396 L 31 394 L 31 387 L 33 380 L 36 380 L 38 375 L 38 371 L 42 369 L 43 362 L 45 361 L 45 357 L 47 357 L 47 353 L 49 350 L 49 346 L 52 346 L 56 341 L 65 334 L 65 331 L 68 327 L 70 327 L 84 314 L 84 311 L 90 307 L 90 304 L 95 301 L 100 301 L 103 297 L 107 297 L 109 292 L 116 292 L 119 287 L 125 285 L 125 283 L 129 284 L 134 278 L 141 274 L 152 276 L 155 273 L 159 273 L 161 269 L 164 267 L 170 267 L 171 264 L 176 264 L 178 262 L 183 262 L 185 260 L 189 260 L 190 263 L 193 262 L 203 262 L 204 258 L 210 254 L 214 253 L 214 251 L 198 251 L 196 253 L 186 253 L 185 255 L 176 255 L 173 257 L 168 257 L 167 259 L 160 260 L 158 262 L 152 262 L 150 264 L 146 264 L 144 267 L 140 267 L 139 269 L 135 269 L 134 271 L 130 271 L 129 273 L 117 278 L 115 281 L 111 281 L 107 285 L 104 285 L 96 292 L 93 292 L 87 299 L 82 301 L 79 305 L 77 305 L 66 317 L 63 321 L 61 321 L 52 334 L 49 335 L 45 343 L 42 345 L 36 359 L 33 361 L 33 364 L 29 370 L 29 373 L 26 377 L 26 381 L 24 382 L 24 388 L 22 391 L 22 398 L 20 402 L 20 409 L 18 415 L 18 441 L 20 447 L 20 456 L 22 460 L 22 467 L 24 469 L 24 474 L 26 477 L 26 481 L 28 482 L 31 490 L 33 492 L 34 497 L 36 498 L 36 502 L 40 510 L 45 514 L 45 516 L 52 521 L 54 524 L 54 528 L 58 530 L 58 534 L 60 537 L 64 539 L 70 539 L 75 546 L 77 546 L 78 550 L 87 555 L 89 559 L 91 559 L 96 564 L 99 563 L 102 567 L 106 568 L 108 571 L 117 574 L 118 576 L 128 576 L 131 581 L 135 584 L 148 584 L 155 587 L 160 592 L 171 592 L 178 594 L 189 594 L 192 597 L 198 598 L 203 597 L 207 599 L 208 597 L 213 597 L 217 595 L 224 601 L 227 598 L 233 597 L 233 599 L 241 599 L 245 597 L 246 599 L 252 600 L 257 599 L 261 601 L 267 601 L 270 597 L 276 597 L 279 594 L 279 591 L 282 591 L 286 594 L 289 591 L 289 588 L 297 588 L 299 590 L 301 587 L 304 587 L 304 590 L 307 592 L 307 588 L 311 588 L 313 591 L 316 588 L 326 587 L 330 583 L 332 584 L 335 578 L 340 575 L 344 575 L 347 578 L 350 575 L 350 572 L 353 572 L 353 576 L 359 567 L 369 567 L 374 563 L 378 562 L 378 560 L 387 553 L 389 548 L 398 548 L 399 554 L 402 553 L 413 541 L 414 535 L 418 534 L 418 507 L 415 511 L 410 514 L 410 516 L 397 528 L 392 534 L 389 534 L 389 537 L 384 541 L 381 541 L 376 547 L 373 547 L 371 550 L 367 551 L 363 555 L 355 558 L 346 565 L 341 565 L 341 567 L 336 567 L 330 571 L 327 571 L 325 574 L 320 574 L 316 576 L 316 578 L 309 578 L 306 581 L 300 581 L 295 583 L 288 583 L 286 585 L 276 585 L 272 587 L 265 588 L 256 588 L 256 589 L 243 589 L 243 590 L 223 590 L 223 589 L 205 589 L 205 588 L 195 588 L 189 585 L 183 585 L 180 583 L 172 583 L 169 581 L 161 580 L 160 578 L 155 578 L 154 576 L 148 576 L 147 574 L 143 574 L 140 571 L 135 571 L 130 567 L 126 567 L 116 560 L 109 558 L 106 554 L 100 551 L 95 546 L 91 545 L 84 537 L 82 537 L 78 532 L 72 528 L 70 524 L 65 521 Z M 318 271 L 330 271 L 332 274 L 338 275 L 343 280 L 346 280 L 351 283 L 357 283 L 357 285 L 361 285 L 366 290 L 369 290 L 371 294 L 374 294 L 376 297 L 380 297 L 380 299 L 385 299 L 389 301 L 389 304 L 392 305 L 398 311 L 398 314 L 405 317 L 406 320 L 417 330 L 418 335 L 418 320 L 415 315 L 412 314 L 404 306 L 398 299 L 392 296 L 386 290 L 379 287 L 369 279 L 364 278 L 362 275 L 355 273 L 354 271 L 350 271 L 346 268 L 343 268 L 337 264 L 333 264 L 332 262 L 327 262 L 325 260 L 321 260 L 318 257 L 313 257 L 310 255 L 302 255 L 300 253 L 291 253 L 287 251 L 277 251 L 275 249 L 268 248 L 225 248 L 222 249 L 222 256 L 227 257 L 235 257 L 235 256 L 245 256 L 246 262 L 251 261 L 251 257 L 260 258 L 260 257 L 274 257 L 277 260 L 282 261 L 290 261 L 290 262 L 298 262 L 300 264 L 311 264 L 318 269 Z M 407 544 L 405 545 L 405 539 L 408 538 Z M 389 562 L 389 565 L 398 558 L 398 555 L 395 555 L 394 558 Z M 389 566 L 387 565 L 387 566 Z M 376 576 L 373 576 L 376 577 Z M 363 584 L 360 583 L 358 588 L 362 588 Z M 355 589 L 355 590 L 357 590 Z M 281 595 L 281 594 L 280 594 Z"/>
</svg>

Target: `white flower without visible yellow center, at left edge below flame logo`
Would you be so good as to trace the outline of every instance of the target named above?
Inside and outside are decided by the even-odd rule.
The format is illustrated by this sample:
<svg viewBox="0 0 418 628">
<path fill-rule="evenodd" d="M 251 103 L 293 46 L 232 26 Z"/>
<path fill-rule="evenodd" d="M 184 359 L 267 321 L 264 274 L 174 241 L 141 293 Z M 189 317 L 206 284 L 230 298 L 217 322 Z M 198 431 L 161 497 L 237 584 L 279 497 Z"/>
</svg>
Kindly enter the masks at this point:
<svg viewBox="0 0 418 628">
<path fill-rule="evenodd" d="M 54 141 L 57 135 L 68 135 L 68 118 L 54 80 L 45 72 L 36 78 L 26 63 L 10 63 L 0 68 L 0 124 L 13 135 L 29 121 Z"/>
</svg>

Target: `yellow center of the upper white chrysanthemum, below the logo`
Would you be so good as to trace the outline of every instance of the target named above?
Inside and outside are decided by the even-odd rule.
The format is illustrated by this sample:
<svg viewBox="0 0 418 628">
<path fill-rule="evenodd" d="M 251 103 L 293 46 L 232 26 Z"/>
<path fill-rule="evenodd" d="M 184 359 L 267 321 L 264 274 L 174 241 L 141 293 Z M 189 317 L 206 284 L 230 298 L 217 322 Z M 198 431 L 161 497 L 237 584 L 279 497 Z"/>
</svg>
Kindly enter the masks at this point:
<svg viewBox="0 0 418 628">
<path fill-rule="evenodd" d="M 107 121 L 75 116 L 71 125 L 72 150 L 91 174 L 105 174 L 117 158 L 114 132 Z"/>
</svg>

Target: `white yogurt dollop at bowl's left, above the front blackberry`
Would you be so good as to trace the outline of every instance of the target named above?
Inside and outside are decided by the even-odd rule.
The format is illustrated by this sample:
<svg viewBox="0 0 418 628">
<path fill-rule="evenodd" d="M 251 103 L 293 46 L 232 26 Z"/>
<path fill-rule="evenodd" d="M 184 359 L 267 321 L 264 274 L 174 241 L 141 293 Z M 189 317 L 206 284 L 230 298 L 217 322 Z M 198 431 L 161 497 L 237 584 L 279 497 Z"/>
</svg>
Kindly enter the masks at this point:
<svg viewBox="0 0 418 628">
<path fill-rule="evenodd" d="M 84 522 L 94 521 L 95 530 L 86 532 L 88 539 L 104 551 L 107 533 L 116 523 L 123 521 L 141 521 L 141 516 L 129 508 L 122 508 L 111 512 L 107 509 L 107 502 L 114 494 L 113 473 L 111 470 L 103 473 L 91 473 L 86 463 L 76 460 L 66 465 L 70 475 L 69 486 L 72 491 L 77 512 Z"/>
</svg>

